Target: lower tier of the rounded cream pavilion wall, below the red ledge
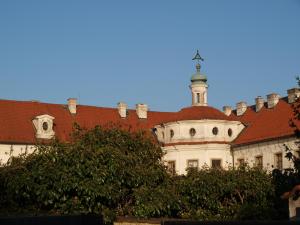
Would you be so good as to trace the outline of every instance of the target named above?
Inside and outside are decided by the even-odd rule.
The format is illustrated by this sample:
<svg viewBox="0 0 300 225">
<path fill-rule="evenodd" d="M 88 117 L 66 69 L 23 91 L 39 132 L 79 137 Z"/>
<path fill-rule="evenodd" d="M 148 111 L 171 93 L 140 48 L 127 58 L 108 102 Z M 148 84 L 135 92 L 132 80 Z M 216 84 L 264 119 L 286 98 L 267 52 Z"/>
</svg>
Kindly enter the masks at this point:
<svg viewBox="0 0 300 225">
<path fill-rule="evenodd" d="M 175 145 L 163 147 L 164 161 L 175 161 L 177 174 L 186 174 L 188 160 L 198 160 L 199 168 L 211 167 L 212 159 L 221 159 L 222 168 L 232 166 L 228 144 Z"/>
</svg>

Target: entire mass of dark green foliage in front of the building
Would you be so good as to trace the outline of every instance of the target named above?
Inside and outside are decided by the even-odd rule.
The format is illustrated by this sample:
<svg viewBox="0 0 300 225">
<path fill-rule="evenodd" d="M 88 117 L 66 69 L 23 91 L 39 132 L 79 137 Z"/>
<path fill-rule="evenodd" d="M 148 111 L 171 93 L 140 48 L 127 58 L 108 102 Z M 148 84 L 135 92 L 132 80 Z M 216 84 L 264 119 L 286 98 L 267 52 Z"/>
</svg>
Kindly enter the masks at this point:
<svg viewBox="0 0 300 225">
<path fill-rule="evenodd" d="M 72 142 L 37 146 L 0 168 L 3 213 L 101 214 L 200 220 L 267 219 L 270 174 L 247 167 L 171 176 L 147 132 L 75 127 Z"/>
</svg>

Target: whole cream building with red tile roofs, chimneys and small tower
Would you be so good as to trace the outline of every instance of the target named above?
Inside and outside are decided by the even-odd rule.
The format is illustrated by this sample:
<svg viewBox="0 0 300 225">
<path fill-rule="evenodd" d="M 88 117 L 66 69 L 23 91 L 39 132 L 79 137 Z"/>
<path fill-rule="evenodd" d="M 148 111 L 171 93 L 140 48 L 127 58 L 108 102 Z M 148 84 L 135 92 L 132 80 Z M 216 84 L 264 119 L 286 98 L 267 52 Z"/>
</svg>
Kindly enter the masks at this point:
<svg viewBox="0 0 300 225">
<path fill-rule="evenodd" d="M 194 59 L 201 60 L 200 55 Z M 255 99 L 255 105 L 239 102 L 236 109 L 223 107 L 223 112 L 208 106 L 208 85 L 200 73 L 200 63 L 191 77 L 192 106 L 178 112 L 153 112 L 146 104 L 127 109 L 78 105 L 76 99 L 64 104 L 37 101 L 0 100 L 0 159 L 30 153 L 37 142 L 51 138 L 70 139 L 74 122 L 85 128 L 109 122 L 151 130 L 166 153 L 164 160 L 172 172 L 186 173 L 188 167 L 239 166 L 248 163 L 266 169 L 291 166 L 285 156 L 285 145 L 295 150 L 296 136 L 289 121 L 291 104 L 300 95 L 299 88 Z"/>
</svg>

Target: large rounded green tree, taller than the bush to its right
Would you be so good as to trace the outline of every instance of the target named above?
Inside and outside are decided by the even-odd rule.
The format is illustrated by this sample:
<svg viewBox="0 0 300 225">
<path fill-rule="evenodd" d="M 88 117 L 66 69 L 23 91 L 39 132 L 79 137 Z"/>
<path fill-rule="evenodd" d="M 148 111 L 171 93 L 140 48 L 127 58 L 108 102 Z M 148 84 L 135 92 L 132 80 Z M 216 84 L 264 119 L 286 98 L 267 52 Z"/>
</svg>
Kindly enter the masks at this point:
<svg viewBox="0 0 300 225">
<path fill-rule="evenodd" d="M 71 143 L 40 145 L 1 168 L 2 211 L 147 216 L 139 213 L 140 193 L 169 180 L 162 155 L 147 132 L 76 126 Z"/>
</svg>

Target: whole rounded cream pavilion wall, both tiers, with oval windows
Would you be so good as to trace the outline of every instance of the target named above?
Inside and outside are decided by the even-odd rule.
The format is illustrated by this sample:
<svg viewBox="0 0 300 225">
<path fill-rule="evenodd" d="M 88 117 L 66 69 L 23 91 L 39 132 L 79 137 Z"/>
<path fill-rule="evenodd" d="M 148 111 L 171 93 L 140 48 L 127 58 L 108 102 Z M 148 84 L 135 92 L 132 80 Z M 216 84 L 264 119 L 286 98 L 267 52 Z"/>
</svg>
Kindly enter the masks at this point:
<svg viewBox="0 0 300 225">
<path fill-rule="evenodd" d="M 218 128 L 217 134 L 212 132 L 214 127 Z M 191 128 L 196 130 L 194 136 L 190 134 Z M 221 160 L 221 166 L 225 169 L 232 166 L 229 143 L 243 128 L 244 125 L 239 121 L 185 120 L 156 126 L 156 134 L 164 144 L 164 161 L 175 161 L 176 173 L 186 174 L 188 160 L 198 160 L 199 168 L 211 167 L 213 159 Z M 231 136 L 228 134 L 229 129 L 232 130 Z"/>
</svg>

